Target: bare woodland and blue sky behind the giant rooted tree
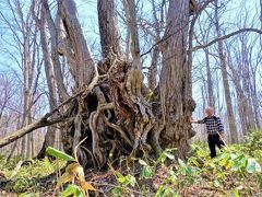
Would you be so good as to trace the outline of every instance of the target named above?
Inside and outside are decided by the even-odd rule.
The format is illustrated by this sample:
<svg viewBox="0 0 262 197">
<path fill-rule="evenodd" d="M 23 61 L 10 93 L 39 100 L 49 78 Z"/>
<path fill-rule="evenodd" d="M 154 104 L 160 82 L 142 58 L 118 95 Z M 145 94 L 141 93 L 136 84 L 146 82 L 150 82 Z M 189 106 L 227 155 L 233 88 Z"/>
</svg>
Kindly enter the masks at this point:
<svg viewBox="0 0 262 197">
<path fill-rule="evenodd" d="M 91 56 L 98 63 L 103 59 L 103 49 L 97 1 L 74 2 Z M 53 30 L 48 16 L 43 22 L 43 3 L 44 1 L 37 0 L 0 0 L 0 137 L 29 125 L 52 111 L 63 101 L 61 92 L 67 92 L 68 95 L 76 92 L 70 60 L 66 56 L 58 59 L 62 76 L 60 80 L 53 73 L 56 66 L 49 63 L 48 67 L 45 61 L 46 54 L 49 58 L 53 55 Z M 56 22 L 57 2 L 48 3 L 50 16 Z M 115 1 L 122 53 L 130 57 L 131 38 L 123 3 L 124 1 Z M 251 129 L 262 127 L 262 1 L 199 2 L 200 5 L 205 3 L 206 8 L 194 21 L 191 34 L 192 96 L 196 103 L 193 117 L 202 118 L 204 108 L 207 105 L 214 106 L 216 115 L 222 117 L 225 125 L 226 140 L 241 142 Z M 168 25 L 168 5 L 169 2 L 165 0 L 135 1 L 141 68 L 144 83 L 152 90 L 159 82 L 163 67 L 159 43 L 163 42 Z M 190 24 L 192 19 L 191 15 Z M 46 37 L 44 42 L 40 35 L 43 33 Z M 52 146 L 62 149 L 60 127 L 56 124 L 37 129 L 0 151 L 9 157 L 36 157 L 48 131 L 55 134 L 51 136 Z M 206 139 L 204 126 L 195 126 L 194 129 L 194 139 Z"/>
</svg>

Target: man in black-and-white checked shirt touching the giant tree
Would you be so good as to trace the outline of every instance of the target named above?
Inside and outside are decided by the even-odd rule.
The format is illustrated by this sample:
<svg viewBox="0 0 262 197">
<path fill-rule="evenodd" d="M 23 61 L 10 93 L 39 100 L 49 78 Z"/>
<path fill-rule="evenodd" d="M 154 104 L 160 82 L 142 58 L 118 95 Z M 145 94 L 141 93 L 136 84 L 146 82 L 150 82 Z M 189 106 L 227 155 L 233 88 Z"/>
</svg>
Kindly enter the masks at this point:
<svg viewBox="0 0 262 197">
<path fill-rule="evenodd" d="M 224 136 L 224 126 L 221 121 L 221 118 L 214 115 L 214 109 L 212 107 L 205 108 L 206 117 L 204 117 L 201 120 L 193 120 L 191 119 L 191 123 L 194 124 L 205 124 L 206 131 L 207 131 L 207 141 L 209 147 L 211 151 L 211 158 L 216 157 L 216 150 L 215 146 L 217 146 L 219 149 L 222 149 L 223 146 L 225 146 L 223 141 Z"/>
</svg>

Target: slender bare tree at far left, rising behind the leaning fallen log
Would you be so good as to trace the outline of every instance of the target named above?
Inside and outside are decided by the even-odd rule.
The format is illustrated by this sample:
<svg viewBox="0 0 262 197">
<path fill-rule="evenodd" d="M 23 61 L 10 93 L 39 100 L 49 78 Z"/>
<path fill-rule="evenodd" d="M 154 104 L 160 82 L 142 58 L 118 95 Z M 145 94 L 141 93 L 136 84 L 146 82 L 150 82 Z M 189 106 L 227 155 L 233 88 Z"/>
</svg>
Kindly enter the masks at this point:
<svg viewBox="0 0 262 197">
<path fill-rule="evenodd" d="M 7 8 L 10 9 L 11 15 L 4 15 L 0 12 L 1 19 L 13 36 L 13 40 L 17 44 L 15 50 L 19 56 L 15 58 L 17 66 L 21 68 L 23 78 L 23 103 L 21 127 L 29 125 L 33 121 L 34 104 L 40 97 L 38 89 L 38 80 L 40 74 L 40 57 L 37 44 L 37 30 L 33 24 L 32 9 L 24 13 L 24 7 L 20 1 L 5 1 Z M 10 19 L 12 20 L 10 20 Z M 34 51 L 34 53 L 32 53 Z M 12 56 L 11 56 L 12 57 Z M 33 134 L 23 138 L 21 144 L 21 153 L 26 157 L 34 155 L 34 137 Z"/>
</svg>

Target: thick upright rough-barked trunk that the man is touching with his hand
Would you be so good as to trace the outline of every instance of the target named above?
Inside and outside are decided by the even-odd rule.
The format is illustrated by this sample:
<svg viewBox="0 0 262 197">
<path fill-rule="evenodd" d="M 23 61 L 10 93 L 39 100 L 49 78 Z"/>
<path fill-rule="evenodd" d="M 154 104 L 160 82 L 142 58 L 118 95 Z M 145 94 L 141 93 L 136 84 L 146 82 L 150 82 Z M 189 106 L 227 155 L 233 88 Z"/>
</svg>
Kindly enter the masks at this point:
<svg viewBox="0 0 262 197">
<path fill-rule="evenodd" d="M 187 44 L 189 27 L 189 1 L 170 0 L 160 73 L 160 102 L 165 129 L 162 146 L 178 147 L 177 155 L 184 158 L 189 150 L 188 139 L 194 135 L 189 123 L 195 104 L 187 91 L 188 70 Z"/>
</svg>

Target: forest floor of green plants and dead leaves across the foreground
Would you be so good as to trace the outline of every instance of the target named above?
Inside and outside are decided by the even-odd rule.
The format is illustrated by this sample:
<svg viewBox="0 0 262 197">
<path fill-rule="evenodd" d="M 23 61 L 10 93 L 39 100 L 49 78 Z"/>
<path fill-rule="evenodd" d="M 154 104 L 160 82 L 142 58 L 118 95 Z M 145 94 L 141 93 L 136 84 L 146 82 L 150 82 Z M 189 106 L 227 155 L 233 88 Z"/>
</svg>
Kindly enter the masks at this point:
<svg viewBox="0 0 262 197">
<path fill-rule="evenodd" d="M 122 158 L 120 164 L 109 164 L 108 170 L 85 172 L 84 189 L 91 196 L 116 197 L 262 196 L 261 132 L 253 132 L 242 144 L 227 147 L 215 159 L 210 159 L 207 146 L 202 142 L 191 146 L 187 162 L 175 160 L 172 153 L 176 150 L 166 150 L 157 159 L 128 161 Z M 17 166 L 20 160 L 16 157 L 7 163 L 4 157 L 0 158 L 1 197 L 84 196 L 76 182 L 56 188 L 64 173 L 64 161 L 45 158 Z"/>
</svg>

